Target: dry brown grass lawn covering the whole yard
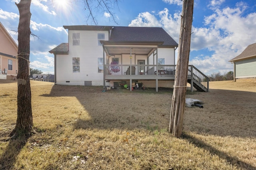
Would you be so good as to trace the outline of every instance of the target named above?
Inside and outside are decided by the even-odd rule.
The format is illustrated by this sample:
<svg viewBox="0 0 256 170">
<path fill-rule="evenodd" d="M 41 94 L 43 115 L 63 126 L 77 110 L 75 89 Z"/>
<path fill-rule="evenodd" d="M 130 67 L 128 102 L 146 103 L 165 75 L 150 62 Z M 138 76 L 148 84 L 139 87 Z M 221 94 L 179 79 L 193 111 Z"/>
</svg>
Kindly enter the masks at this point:
<svg viewBox="0 0 256 170">
<path fill-rule="evenodd" d="M 17 83 L 0 81 L 0 169 L 256 169 L 256 81 L 210 82 L 188 92 L 184 135 L 167 129 L 172 92 L 31 82 L 34 129 L 9 139 Z"/>
</svg>

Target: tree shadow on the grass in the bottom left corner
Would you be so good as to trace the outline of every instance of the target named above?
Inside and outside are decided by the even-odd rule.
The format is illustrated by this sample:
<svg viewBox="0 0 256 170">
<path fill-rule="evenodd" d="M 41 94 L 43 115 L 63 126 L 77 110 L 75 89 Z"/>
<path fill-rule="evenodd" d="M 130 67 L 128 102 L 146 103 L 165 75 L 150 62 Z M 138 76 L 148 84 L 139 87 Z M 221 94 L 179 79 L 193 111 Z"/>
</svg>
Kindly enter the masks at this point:
<svg viewBox="0 0 256 170">
<path fill-rule="evenodd" d="M 12 170 L 20 150 L 26 145 L 29 135 L 23 135 L 16 139 L 10 139 L 8 146 L 0 157 L 0 169 Z"/>
</svg>

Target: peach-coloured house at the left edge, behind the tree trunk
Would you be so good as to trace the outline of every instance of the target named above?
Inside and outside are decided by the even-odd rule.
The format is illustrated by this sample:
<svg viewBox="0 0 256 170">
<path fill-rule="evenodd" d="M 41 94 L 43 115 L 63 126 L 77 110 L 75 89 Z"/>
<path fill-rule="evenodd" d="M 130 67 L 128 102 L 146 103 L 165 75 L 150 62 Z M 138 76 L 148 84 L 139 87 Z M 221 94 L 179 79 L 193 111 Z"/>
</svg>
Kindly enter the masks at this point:
<svg viewBox="0 0 256 170">
<path fill-rule="evenodd" d="M 18 45 L 0 22 L 0 79 L 16 80 Z"/>
</svg>

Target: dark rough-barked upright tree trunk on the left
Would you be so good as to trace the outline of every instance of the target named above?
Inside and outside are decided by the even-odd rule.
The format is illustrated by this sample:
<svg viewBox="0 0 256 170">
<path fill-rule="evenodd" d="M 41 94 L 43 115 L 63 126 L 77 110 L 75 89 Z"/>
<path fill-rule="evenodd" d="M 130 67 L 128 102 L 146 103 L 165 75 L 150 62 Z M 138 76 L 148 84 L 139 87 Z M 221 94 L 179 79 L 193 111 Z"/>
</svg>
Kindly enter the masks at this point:
<svg viewBox="0 0 256 170">
<path fill-rule="evenodd" d="M 30 4 L 31 0 L 20 0 L 15 3 L 20 13 L 18 25 L 18 96 L 17 121 L 12 134 L 27 132 L 32 129 L 31 89 L 29 79 L 30 54 Z"/>
</svg>

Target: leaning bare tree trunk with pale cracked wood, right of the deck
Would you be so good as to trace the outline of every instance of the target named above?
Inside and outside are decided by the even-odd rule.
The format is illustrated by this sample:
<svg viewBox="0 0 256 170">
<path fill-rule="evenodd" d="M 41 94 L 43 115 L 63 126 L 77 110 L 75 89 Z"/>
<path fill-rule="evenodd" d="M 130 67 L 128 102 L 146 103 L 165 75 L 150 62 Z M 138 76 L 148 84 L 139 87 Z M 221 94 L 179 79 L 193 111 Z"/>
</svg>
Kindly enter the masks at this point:
<svg viewBox="0 0 256 170">
<path fill-rule="evenodd" d="M 188 78 L 193 6 L 194 0 L 183 0 L 180 42 L 169 126 L 169 132 L 172 133 L 174 137 L 181 137 L 182 135 L 183 114 L 186 104 L 186 84 Z"/>
</svg>

